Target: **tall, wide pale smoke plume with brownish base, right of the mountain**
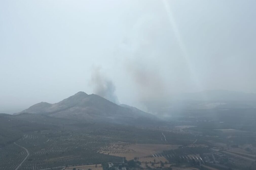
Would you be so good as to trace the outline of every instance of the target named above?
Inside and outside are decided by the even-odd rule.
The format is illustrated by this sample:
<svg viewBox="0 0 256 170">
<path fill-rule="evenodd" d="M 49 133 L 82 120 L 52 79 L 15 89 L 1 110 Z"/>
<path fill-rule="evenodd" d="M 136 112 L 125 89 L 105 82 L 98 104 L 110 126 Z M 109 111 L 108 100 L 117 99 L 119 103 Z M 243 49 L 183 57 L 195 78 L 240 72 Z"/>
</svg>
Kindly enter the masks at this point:
<svg viewBox="0 0 256 170">
<path fill-rule="evenodd" d="M 163 23 L 150 14 L 141 16 L 134 24 L 130 36 L 125 39 L 126 43 L 121 46 L 126 54 L 126 75 L 133 82 L 135 97 L 148 112 L 153 105 L 170 98 L 170 87 L 166 82 L 170 77 L 167 74 L 170 66 L 166 62 L 169 58 L 166 53 L 169 51 L 166 45 L 168 30 L 162 28 Z"/>
</svg>

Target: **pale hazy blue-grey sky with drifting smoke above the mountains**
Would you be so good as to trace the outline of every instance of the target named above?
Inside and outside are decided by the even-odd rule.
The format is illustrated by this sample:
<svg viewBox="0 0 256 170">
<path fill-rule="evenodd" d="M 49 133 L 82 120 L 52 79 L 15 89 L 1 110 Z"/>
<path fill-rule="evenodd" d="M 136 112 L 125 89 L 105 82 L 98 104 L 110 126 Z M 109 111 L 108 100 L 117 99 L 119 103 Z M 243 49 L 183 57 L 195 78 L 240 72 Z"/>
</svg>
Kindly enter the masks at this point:
<svg viewBox="0 0 256 170">
<path fill-rule="evenodd" d="M 255 93 L 255 6 L 1 0 L 0 113 L 78 91 L 134 106 L 172 92 Z"/>
</svg>

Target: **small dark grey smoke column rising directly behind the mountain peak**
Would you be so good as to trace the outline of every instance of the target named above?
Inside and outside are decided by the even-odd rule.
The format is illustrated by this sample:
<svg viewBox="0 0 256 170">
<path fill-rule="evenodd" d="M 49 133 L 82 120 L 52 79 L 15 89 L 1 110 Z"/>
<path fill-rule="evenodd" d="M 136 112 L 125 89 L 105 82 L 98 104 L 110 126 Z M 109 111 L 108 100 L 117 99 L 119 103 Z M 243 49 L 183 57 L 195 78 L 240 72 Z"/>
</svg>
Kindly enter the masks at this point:
<svg viewBox="0 0 256 170">
<path fill-rule="evenodd" d="M 109 80 L 102 74 L 101 67 L 92 68 L 90 85 L 93 86 L 93 93 L 119 104 L 118 98 L 115 95 L 115 85 L 112 80 Z"/>
</svg>

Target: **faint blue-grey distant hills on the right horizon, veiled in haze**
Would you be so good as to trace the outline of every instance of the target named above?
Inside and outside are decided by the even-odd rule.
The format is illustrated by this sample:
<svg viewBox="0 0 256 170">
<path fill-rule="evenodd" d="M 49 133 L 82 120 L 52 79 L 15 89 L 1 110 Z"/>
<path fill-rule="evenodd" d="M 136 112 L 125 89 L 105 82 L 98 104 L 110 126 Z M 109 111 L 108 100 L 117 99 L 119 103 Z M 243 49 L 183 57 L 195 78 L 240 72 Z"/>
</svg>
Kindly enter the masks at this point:
<svg viewBox="0 0 256 170">
<path fill-rule="evenodd" d="M 146 103 L 148 112 L 158 115 L 179 114 L 188 110 L 256 108 L 256 94 L 229 90 L 173 93 L 169 99 Z"/>
</svg>

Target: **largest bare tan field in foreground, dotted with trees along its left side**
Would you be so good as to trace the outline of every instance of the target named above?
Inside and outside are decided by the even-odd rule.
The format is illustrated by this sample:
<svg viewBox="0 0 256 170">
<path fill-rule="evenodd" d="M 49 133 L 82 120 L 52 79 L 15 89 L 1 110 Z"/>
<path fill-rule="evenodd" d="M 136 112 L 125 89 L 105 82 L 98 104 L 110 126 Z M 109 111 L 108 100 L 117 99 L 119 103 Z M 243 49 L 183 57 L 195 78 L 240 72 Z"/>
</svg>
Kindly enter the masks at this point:
<svg viewBox="0 0 256 170">
<path fill-rule="evenodd" d="M 152 154 L 162 152 L 163 150 L 172 150 L 172 149 L 177 149 L 178 147 L 179 145 L 131 144 L 126 142 L 115 142 L 115 143 L 112 143 L 107 148 L 102 148 L 98 152 L 103 154 L 114 155 L 114 156 L 126 157 L 127 160 L 132 160 L 134 159 L 134 157 L 141 158 L 145 156 L 151 156 Z M 159 159 L 163 159 L 163 157 L 160 157 Z M 167 160 L 164 159 L 163 162 L 165 161 Z"/>
</svg>

